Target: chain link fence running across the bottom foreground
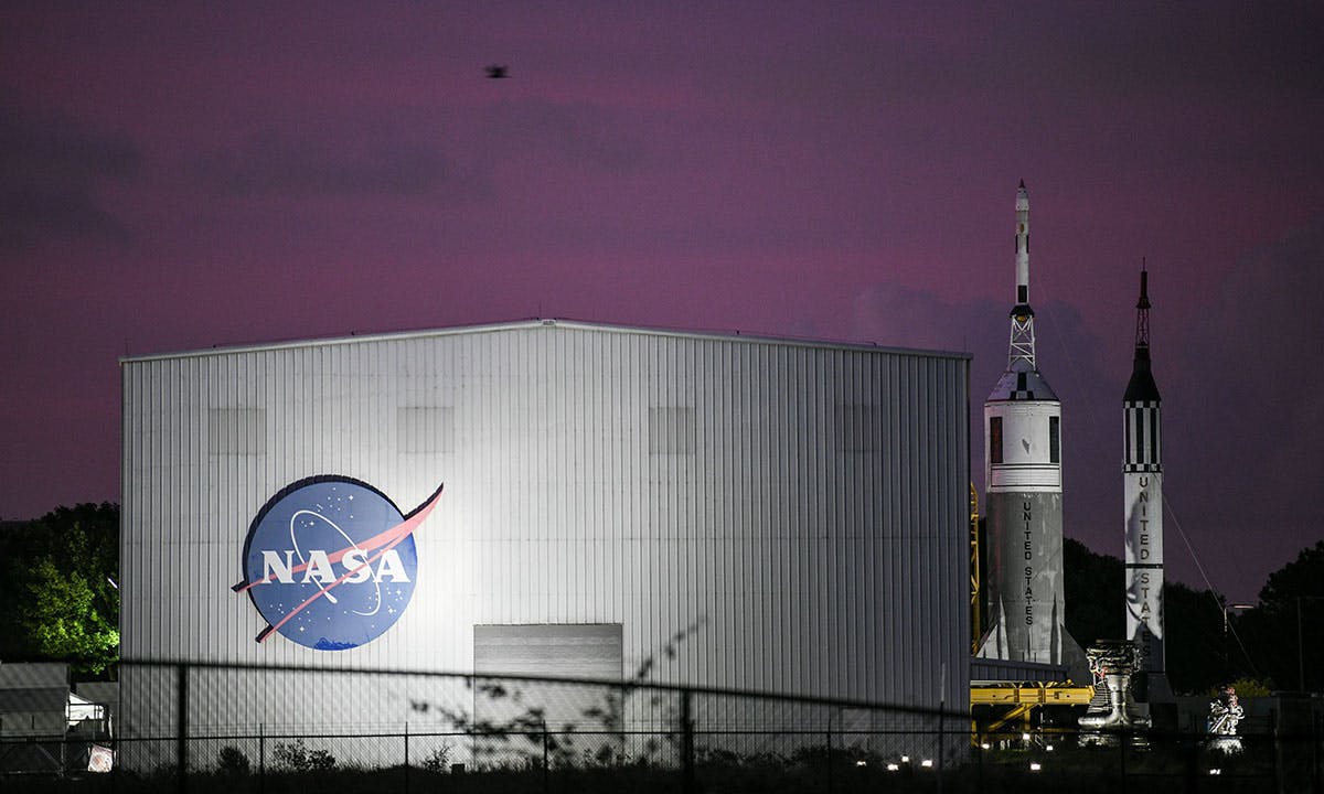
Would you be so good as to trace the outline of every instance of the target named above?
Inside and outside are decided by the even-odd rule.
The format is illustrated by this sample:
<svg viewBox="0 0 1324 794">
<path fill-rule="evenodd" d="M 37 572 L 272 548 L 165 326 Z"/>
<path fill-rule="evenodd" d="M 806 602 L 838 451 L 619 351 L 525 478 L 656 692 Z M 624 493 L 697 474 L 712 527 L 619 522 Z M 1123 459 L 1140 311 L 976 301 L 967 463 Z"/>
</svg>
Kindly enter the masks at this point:
<svg viewBox="0 0 1324 794">
<path fill-rule="evenodd" d="M 956 711 L 642 682 L 222 664 L 126 663 L 120 701 L 101 734 L 0 733 L 0 790 L 1276 794 L 1321 782 L 1317 720 L 1233 740 L 984 733 Z M 315 719 L 298 719 L 301 701 Z M 114 753 L 109 773 L 89 772 L 97 748 Z"/>
</svg>

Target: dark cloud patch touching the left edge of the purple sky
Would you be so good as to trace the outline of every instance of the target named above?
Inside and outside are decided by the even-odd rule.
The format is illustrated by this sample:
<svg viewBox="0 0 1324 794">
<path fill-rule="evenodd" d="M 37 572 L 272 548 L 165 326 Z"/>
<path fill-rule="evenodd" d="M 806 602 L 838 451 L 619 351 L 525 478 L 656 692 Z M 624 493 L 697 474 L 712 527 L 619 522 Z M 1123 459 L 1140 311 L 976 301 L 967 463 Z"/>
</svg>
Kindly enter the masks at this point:
<svg viewBox="0 0 1324 794">
<path fill-rule="evenodd" d="M 139 168 L 134 143 L 0 91 L 0 250 L 50 238 L 127 240 L 98 188 Z"/>
</svg>

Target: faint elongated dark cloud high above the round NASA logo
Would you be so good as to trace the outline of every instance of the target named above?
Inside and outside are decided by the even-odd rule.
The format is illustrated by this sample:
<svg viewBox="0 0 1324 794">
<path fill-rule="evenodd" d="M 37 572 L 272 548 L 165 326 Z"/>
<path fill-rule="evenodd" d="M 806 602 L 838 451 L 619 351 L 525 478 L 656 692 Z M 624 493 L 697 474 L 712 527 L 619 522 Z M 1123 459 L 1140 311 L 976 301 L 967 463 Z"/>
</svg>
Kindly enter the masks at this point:
<svg viewBox="0 0 1324 794">
<path fill-rule="evenodd" d="M 455 169 L 433 146 L 267 128 L 213 152 L 199 177 L 237 196 L 428 196 L 454 181 Z"/>
</svg>

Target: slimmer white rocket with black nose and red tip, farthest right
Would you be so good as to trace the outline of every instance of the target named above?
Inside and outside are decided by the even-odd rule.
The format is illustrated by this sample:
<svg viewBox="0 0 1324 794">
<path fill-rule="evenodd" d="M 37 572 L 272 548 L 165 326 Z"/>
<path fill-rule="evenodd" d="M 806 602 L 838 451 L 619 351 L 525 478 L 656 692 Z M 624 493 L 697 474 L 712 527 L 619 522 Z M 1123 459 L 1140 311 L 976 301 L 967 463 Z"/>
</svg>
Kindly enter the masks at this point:
<svg viewBox="0 0 1324 794">
<path fill-rule="evenodd" d="M 1140 646 L 1148 696 L 1168 699 L 1162 625 L 1162 446 L 1158 386 L 1149 361 L 1149 274 L 1141 266 L 1136 353 L 1123 396 L 1127 639 Z"/>
</svg>

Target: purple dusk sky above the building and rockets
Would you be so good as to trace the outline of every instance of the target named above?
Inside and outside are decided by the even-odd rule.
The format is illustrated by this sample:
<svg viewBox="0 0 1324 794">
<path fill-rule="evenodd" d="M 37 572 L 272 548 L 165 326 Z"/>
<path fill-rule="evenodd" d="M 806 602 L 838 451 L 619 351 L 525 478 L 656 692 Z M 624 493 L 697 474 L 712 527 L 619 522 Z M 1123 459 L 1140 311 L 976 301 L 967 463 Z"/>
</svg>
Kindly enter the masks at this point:
<svg viewBox="0 0 1324 794">
<path fill-rule="evenodd" d="M 0 24 L 5 519 L 118 500 L 126 353 L 561 316 L 964 349 L 978 413 L 1025 179 L 1066 533 L 1121 554 L 1148 257 L 1170 574 L 1324 537 L 1319 4 L 160 5 Z"/>
</svg>

